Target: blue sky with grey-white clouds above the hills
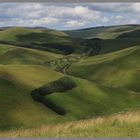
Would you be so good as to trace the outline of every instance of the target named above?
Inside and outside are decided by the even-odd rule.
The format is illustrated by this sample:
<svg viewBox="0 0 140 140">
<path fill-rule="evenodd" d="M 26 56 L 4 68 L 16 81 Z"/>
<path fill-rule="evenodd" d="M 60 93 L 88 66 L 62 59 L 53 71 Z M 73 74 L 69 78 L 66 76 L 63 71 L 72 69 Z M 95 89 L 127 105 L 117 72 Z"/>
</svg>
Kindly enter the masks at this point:
<svg viewBox="0 0 140 140">
<path fill-rule="evenodd" d="M 0 26 L 66 30 L 139 24 L 140 3 L 1 3 Z"/>
</svg>

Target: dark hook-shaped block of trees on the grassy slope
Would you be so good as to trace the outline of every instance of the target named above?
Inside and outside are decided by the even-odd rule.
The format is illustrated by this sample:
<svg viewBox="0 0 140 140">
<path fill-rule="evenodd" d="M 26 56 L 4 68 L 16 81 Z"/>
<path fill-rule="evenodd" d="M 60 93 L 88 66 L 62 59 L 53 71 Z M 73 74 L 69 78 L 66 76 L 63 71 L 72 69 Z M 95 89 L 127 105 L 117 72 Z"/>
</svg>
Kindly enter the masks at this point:
<svg viewBox="0 0 140 140">
<path fill-rule="evenodd" d="M 44 96 L 55 93 L 55 92 L 66 92 L 76 87 L 76 83 L 69 77 L 62 77 L 56 81 L 48 83 L 40 88 L 32 91 L 31 95 L 35 101 L 41 102 L 56 113 L 65 115 L 66 112 L 63 108 L 54 104 L 51 100 L 44 98 Z"/>
</svg>

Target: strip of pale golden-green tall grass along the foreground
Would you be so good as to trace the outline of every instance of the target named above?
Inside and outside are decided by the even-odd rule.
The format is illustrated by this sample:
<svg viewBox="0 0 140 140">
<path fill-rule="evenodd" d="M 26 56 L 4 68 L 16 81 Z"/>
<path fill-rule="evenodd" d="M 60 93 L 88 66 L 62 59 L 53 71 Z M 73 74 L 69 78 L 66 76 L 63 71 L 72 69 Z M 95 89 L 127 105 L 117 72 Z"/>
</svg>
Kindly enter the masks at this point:
<svg viewBox="0 0 140 140">
<path fill-rule="evenodd" d="M 140 111 L 0 132 L 0 137 L 140 137 Z"/>
</svg>

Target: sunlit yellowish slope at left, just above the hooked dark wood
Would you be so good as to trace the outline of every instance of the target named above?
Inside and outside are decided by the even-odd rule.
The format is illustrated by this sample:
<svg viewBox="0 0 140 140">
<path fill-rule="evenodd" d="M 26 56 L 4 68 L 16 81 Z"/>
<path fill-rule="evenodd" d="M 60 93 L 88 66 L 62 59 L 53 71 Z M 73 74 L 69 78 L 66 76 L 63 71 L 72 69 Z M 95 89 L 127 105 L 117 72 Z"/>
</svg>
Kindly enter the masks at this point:
<svg viewBox="0 0 140 140">
<path fill-rule="evenodd" d="M 0 65 L 0 76 L 33 89 L 56 80 L 61 74 L 39 65 Z"/>
</svg>

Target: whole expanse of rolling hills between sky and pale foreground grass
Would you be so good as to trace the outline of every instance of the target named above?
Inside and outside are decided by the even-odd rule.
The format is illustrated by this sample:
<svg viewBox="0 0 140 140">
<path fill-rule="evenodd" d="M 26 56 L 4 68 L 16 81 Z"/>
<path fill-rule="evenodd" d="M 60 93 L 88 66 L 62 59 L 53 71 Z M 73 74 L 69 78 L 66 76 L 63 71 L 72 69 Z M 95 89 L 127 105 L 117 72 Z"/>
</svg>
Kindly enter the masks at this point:
<svg viewBox="0 0 140 140">
<path fill-rule="evenodd" d="M 0 129 L 139 109 L 139 35 L 139 25 L 0 30 Z"/>
</svg>

